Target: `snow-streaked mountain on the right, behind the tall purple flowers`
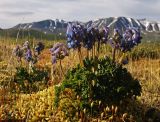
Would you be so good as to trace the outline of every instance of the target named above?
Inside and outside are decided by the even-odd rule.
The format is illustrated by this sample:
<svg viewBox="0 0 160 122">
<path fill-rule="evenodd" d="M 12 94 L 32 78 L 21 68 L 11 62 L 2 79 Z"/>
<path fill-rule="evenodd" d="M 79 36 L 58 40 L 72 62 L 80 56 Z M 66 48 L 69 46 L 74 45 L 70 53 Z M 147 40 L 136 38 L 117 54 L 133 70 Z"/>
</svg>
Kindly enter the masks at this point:
<svg viewBox="0 0 160 122">
<path fill-rule="evenodd" d="M 108 26 L 109 28 L 118 28 L 120 30 L 125 30 L 129 27 L 139 28 L 146 32 L 158 32 L 160 31 L 160 23 L 148 21 L 146 19 L 137 20 L 128 17 L 110 17 L 92 21 L 94 27 L 101 28 L 103 26 Z"/>
</svg>

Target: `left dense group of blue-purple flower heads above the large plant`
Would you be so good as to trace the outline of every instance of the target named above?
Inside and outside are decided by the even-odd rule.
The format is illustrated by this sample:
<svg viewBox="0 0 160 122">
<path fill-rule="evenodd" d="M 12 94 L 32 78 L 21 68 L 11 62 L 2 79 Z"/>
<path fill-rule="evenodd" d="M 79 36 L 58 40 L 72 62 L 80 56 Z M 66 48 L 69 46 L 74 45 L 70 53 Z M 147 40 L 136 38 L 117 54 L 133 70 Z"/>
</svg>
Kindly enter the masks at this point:
<svg viewBox="0 0 160 122">
<path fill-rule="evenodd" d="M 108 41 L 109 28 L 103 27 L 101 30 L 91 25 L 84 27 L 79 23 L 68 23 L 67 46 L 68 48 L 78 48 L 82 45 L 88 50 L 92 49 L 96 41 L 106 43 Z"/>
</svg>

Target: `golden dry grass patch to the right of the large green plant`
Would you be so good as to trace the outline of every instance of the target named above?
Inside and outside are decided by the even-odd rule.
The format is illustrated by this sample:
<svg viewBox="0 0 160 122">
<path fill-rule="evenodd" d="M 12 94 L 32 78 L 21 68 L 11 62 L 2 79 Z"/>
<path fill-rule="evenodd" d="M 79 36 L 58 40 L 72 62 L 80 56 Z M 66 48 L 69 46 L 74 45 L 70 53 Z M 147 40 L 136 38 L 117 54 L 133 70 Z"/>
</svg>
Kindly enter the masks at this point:
<svg viewBox="0 0 160 122">
<path fill-rule="evenodd" d="M 160 59 L 138 60 L 131 62 L 127 68 L 141 81 L 141 102 L 147 107 L 160 109 Z"/>
</svg>

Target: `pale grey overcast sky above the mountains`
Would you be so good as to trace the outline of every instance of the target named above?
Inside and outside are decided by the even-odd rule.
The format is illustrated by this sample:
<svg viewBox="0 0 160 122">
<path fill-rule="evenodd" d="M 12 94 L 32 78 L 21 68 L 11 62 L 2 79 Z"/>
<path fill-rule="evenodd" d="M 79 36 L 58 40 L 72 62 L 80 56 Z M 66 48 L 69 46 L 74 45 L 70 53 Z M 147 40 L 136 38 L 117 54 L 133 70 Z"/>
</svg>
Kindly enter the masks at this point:
<svg viewBox="0 0 160 122">
<path fill-rule="evenodd" d="M 160 20 L 160 0 L 0 0 L 0 28 L 45 19 L 88 21 L 113 16 Z"/>
</svg>

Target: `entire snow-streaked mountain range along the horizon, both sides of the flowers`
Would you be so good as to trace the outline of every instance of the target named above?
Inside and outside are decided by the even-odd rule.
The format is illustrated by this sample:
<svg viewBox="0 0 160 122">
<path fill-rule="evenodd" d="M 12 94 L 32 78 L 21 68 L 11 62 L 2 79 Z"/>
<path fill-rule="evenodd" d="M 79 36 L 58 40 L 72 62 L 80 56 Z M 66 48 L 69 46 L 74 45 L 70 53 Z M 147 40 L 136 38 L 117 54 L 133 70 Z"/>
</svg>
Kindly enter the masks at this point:
<svg viewBox="0 0 160 122">
<path fill-rule="evenodd" d="M 44 33 L 65 32 L 67 27 L 67 21 L 64 20 L 44 20 L 33 23 L 18 24 L 12 29 L 24 29 L 24 30 L 38 30 Z M 160 23 L 148 21 L 146 19 L 133 19 L 128 17 L 109 17 L 88 22 L 81 23 L 84 25 L 92 25 L 93 27 L 101 28 L 108 26 L 110 29 L 118 28 L 125 30 L 128 27 L 136 27 L 144 32 L 159 32 Z"/>
</svg>

